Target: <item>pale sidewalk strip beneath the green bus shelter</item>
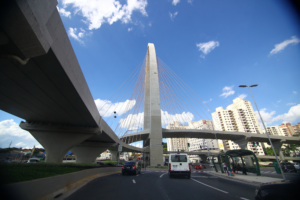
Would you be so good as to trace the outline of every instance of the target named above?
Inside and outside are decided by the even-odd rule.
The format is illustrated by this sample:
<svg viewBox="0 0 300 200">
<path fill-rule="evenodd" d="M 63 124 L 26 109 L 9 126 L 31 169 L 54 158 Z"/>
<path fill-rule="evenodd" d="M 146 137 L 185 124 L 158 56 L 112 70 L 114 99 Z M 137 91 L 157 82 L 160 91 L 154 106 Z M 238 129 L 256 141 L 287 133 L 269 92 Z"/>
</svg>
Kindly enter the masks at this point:
<svg viewBox="0 0 300 200">
<path fill-rule="evenodd" d="M 206 171 L 206 173 L 214 175 L 214 176 L 218 176 L 220 178 L 225 178 L 225 179 L 238 181 L 238 182 L 249 183 L 249 184 L 257 185 L 257 186 L 262 184 L 262 183 L 269 183 L 269 182 L 281 181 L 282 180 L 280 178 L 257 176 L 257 175 L 249 174 L 249 173 L 248 173 L 248 175 L 235 174 L 235 176 L 228 176 L 227 173 L 222 174 L 221 172 L 215 172 L 215 171 Z"/>
</svg>

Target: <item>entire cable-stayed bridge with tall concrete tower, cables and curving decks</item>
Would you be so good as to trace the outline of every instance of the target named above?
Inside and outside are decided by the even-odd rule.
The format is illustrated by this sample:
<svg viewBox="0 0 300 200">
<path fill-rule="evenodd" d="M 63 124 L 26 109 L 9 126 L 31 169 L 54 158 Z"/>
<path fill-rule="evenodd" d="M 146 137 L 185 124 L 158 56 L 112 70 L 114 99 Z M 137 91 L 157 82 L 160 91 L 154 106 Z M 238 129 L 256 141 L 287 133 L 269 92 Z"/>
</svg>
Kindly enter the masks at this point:
<svg viewBox="0 0 300 200">
<path fill-rule="evenodd" d="M 157 165 L 163 164 L 162 138 L 217 136 L 242 148 L 248 141 L 266 141 L 266 135 L 242 132 L 164 129 L 175 121 L 187 126 L 207 119 L 212 109 L 156 56 L 153 44 L 121 92 L 95 104 L 56 1 L 6 1 L 0 13 L 0 109 L 26 120 L 20 127 L 43 145 L 47 162 L 61 162 L 70 149 L 78 162 L 91 162 L 121 144 L 125 151 L 149 152 L 151 165 Z M 300 143 L 271 138 L 278 148 Z M 129 145 L 135 141 L 144 148 Z"/>
</svg>

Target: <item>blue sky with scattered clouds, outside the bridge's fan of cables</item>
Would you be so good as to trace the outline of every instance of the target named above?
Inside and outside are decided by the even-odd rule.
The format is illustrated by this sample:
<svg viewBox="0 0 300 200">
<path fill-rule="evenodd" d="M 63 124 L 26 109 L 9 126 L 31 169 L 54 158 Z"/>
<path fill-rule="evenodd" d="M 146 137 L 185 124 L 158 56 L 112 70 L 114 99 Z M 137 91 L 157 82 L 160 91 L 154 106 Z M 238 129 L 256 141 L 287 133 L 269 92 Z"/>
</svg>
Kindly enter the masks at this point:
<svg viewBox="0 0 300 200">
<path fill-rule="evenodd" d="M 95 100 L 108 99 L 154 43 L 157 56 L 211 108 L 240 95 L 254 105 L 238 85 L 258 84 L 252 92 L 267 125 L 300 122 L 300 28 L 285 1 L 58 2 Z M 18 128 L 21 120 L 0 112 L 0 147 L 39 145 Z"/>
</svg>

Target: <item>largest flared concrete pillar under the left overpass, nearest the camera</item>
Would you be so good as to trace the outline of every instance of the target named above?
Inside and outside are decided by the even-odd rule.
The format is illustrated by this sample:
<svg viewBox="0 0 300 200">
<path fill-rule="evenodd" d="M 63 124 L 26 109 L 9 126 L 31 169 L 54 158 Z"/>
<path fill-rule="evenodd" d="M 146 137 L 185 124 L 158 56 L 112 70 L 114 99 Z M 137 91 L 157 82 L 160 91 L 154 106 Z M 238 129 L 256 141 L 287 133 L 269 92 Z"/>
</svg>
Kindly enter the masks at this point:
<svg viewBox="0 0 300 200">
<path fill-rule="evenodd" d="M 62 163 L 66 153 L 77 144 L 90 138 L 94 133 L 82 127 L 62 127 L 21 122 L 20 127 L 31 135 L 45 148 L 46 161 Z"/>
</svg>

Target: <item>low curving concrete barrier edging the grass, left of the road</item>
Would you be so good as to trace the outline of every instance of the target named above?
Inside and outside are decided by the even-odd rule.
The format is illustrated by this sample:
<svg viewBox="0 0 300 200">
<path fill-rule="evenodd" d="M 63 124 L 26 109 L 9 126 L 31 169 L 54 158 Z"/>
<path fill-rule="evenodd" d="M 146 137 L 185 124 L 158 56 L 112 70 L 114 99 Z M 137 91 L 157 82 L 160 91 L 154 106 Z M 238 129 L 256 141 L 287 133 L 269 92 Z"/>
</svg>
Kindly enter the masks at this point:
<svg viewBox="0 0 300 200">
<path fill-rule="evenodd" d="M 32 181 L 1 186 L 4 199 L 50 200 L 56 199 L 71 189 L 91 181 L 94 178 L 120 173 L 120 167 L 86 169 L 79 172 L 41 178 Z M 1 195 L 1 196 L 2 196 Z M 2 196 L 3 197 L 3 196 Z M 2 199 L 1 197 L 1 199 Z"/>
</svg>

